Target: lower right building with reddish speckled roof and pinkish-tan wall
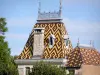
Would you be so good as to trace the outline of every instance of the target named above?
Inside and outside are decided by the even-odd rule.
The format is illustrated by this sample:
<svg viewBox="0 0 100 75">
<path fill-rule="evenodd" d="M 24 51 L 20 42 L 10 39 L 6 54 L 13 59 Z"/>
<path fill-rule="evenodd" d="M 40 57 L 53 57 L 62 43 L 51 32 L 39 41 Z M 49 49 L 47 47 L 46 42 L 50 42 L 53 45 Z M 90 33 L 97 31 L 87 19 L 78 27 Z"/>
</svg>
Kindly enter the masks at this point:
<svg viewBox="0 0 100 75">
<path fill-rule="evenodd" d="M 66 68 L 76 75 L 100 75 L 100 53 L 91 45 L 78 44 L 67 60 Z"/>
</svg>

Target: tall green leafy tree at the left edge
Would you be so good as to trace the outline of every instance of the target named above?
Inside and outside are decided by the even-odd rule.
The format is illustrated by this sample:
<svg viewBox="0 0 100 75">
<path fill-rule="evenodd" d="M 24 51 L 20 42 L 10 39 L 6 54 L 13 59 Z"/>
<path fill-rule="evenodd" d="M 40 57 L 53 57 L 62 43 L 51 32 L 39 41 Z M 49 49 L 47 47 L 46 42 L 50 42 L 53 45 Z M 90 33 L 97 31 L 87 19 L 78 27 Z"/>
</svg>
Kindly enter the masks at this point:
<svg viewBox="0 0 100 75">
<path fill-rule="evenodd" d="M 5 18 L 0 18 L 0 75 L 18 75 L 14 59 L 10 56 L 8 42 L 5 41 L 4 33 L 7 31 Z"/>
</svg>

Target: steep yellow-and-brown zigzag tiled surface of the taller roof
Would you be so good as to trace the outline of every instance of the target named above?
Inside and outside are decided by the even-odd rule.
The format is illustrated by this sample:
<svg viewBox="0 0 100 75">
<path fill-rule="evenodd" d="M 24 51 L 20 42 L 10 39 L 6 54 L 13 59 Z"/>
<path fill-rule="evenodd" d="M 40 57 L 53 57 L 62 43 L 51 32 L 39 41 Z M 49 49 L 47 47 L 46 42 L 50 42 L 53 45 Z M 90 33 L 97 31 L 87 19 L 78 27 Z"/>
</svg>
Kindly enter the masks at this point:
<svg viewBox="0 0 100 75">
<path fill-rule="evenodd" d="M 34 28 L 45 28 L 44 31 L 44 52 L 42 58 L 63 58 L 68 55 L 72 50 L 71 41 L 69 42 L 69 48 L 67 49 L 64 43 L 64 35 L 68 35 L 64 23 L 62 22 L 50 22 L 50 23 L 36 23 Z M 55 44 L 52 48 L 49 48 L 48 38 L 53 34 L 55 36 Z M 33 54 L 34 34 L 31 32 L 29 39 L 19 55 L 18 59 L 30 59 Z"/>
</svg>

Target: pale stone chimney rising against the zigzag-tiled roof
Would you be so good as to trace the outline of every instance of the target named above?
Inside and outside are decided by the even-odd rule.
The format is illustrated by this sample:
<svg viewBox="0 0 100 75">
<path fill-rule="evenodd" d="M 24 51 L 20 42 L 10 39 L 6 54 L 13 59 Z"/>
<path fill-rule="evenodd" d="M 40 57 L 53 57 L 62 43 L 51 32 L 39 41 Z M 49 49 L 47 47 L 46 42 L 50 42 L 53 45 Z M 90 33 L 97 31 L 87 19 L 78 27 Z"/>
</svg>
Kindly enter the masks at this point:
<svg viewBox="0 0 100 75">
<path fill-rule="evenodd" d="M 44 50 L 44 28 L 34 28 L 33 58 L 41 56 Z"/>
</svg>

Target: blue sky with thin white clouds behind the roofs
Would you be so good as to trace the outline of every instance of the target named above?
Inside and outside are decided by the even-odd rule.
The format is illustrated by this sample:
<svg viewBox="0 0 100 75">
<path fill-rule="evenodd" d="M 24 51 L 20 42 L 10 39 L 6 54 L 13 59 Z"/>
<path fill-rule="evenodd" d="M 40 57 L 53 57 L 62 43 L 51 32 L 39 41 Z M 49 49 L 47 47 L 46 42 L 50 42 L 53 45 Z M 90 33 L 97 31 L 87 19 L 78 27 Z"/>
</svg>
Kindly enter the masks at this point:
<svg viewBox="0 0 100 75">
<path fill-rule="evenodd" d="M 73 47 L 78 38 L 100 52 L 100 0 L 62 0 L 62 18 Z M 58 11 L 59 0 L 41 0 L 41 11 Z M 38 0 L 0 0 L 0 17 L 6 18 L 5 34 L 11 55 L 19 55 L 38 17 Z"/>
</svg>

